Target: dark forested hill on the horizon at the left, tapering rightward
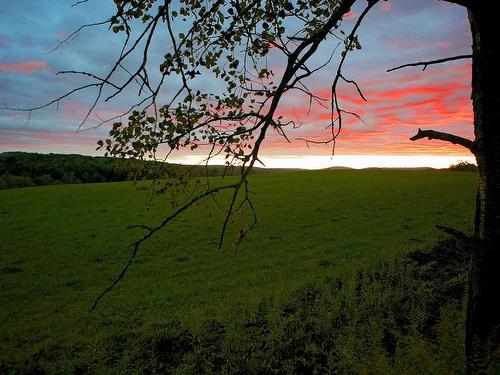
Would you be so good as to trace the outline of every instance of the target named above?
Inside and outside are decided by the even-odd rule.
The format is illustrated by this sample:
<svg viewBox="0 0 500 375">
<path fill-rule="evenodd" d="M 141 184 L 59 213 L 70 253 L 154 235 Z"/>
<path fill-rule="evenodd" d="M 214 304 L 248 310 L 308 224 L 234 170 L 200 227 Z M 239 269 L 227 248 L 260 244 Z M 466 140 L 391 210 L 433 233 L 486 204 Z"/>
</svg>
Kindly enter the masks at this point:
<svg viewBox="0 0 500 375">
<path fill-rule="evenodd" d="M 287 169 L 254 168 L 253 173 L 282 172 Z M 155 177 L 222 176 L 239 173 L 238 167 L 224 165 L 182 165 L 157 161 L 118 159 L 78 154 L 0 153 L 0 189 L 53 184 L 118 182 Z"/>
</svg>

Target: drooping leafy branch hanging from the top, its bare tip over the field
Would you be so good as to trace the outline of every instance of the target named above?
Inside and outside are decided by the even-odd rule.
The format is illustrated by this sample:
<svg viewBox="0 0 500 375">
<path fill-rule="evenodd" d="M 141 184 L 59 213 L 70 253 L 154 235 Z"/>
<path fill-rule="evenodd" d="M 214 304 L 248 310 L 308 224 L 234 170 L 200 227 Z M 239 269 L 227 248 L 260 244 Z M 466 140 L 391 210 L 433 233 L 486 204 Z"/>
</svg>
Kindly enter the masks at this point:
<svg viewBox="0 0 500 375">
<path fill-rule="evenodd" d="M 75 5 L 85 2 L 85 0 L 73 1 L 76 1 Z M 103 75 L 76 70 L 61 72 L 60 74 L 85 76 L 90 78 L 92 82 L 75 88 L 59 98 L 36 108 L 11 108 L 28 111 L 28 114 L 30 114 L 33 110 L 58 104 L 60 100 L 80 90 L 95 88 L 97 94 L 80 124 L 80 127 L 82 127 L 89 115 L 95 112 L 98 104 L 111 101 L 118 95 L 123 94 L 131 84 L 137 84 L 139 86 L 137 103 L 107 120 L 101 119 L 101 124 L 120 119 L 119 122 L 113 124 L 110 131 L 114 143 L 111 140 L 106 140 L 105 144 L 100 141 L 101 148 L 110 152 L 111 155 L 143 158 L 145 155 L 154 155 L 160 145 L 165 145 L 169 147 L 165 157 L 167 158 L 174 150 L 179 150 L 181 147 L 191 147 L 191 150 L 194 150 L 198 146 L 211 144 L 211 151 L 206 158 L 207 166 L 208 160 L 223 152 L 226 155 L 228 166 L 237 164 L 241 167 L 241 174 L 237 182 L 210 187 L 207 179 L 207 186 L 203 191 L 198 188 L 191 191 L 190 194 L 192 195 L 185 198 L 186 203 L 172 213 L 167 214 L 168 216 L 157 226 L 142 224 L 131 226 L 130 228 L 142 229 L 145 232 L 141 234 L 143 235 L 141 238 L 130 245 L 132 253 L 126 265 L 114 278 L 114 281 L 99 294 L 91 310 L 95 309 L 106 293 L 110 292 L 124 277 L 144 241 L 194 203 L 205 197 L 215 199 L 215 193 L 223 189 L 229 189 L 232 194 L 229 197 L 229 205 L 221 230 L 219 246 L 223 244 L 226 229 L 232 223 L 231 216 L 236 211 L 242 208 L 249 209 L 253 216 L 252 224 L 240 229 L 239 240 L 237 241 L 239 245 L 243 237 L 257 222 L 254 206 L 249 199 L 250 192 L 247 186 L 247 176 L 256 162 L 261 163 L 258 154 L 266 134 L 269 129 L 272 129 L 288 140 L 285 127 L 295 125 L 293 121 L 282 120 L 281 116 L 275 118 L 278 107 L 284 95 L 289 90 L 295 89 L 307 94 L 310 103 L 315 100 L 320 105 L 323 104 L 322 98 L 314 95 L 302 80 L 323 69 L 331 62 L 335 50 L 333 50 L 326 62 L 318 67 L 308 66 L 310 58 L 316 54 L 327 37 L 332 35 L 332 30 L 339 27 L 342 17 L 349 12 L 355 2 L 356 0 L 339 0 L 332 5 L 330 12 L 320 17 L 322 23 L 315 25 L 314 30 L 312 30 L 311 25 L 313 23 L 308 17 L 301 17 L 299 13 L 291 12 L 283 5 L 276 5 L 278 8 L 283 9 L 279 12 L 279 17 L 277 15 L 276 22 L 271 22 L 262 15 L 258 15 L 257 12 L 255 12 L 255 15 L 251 15 L 252 10 L 260 6 L 258 0 L 248 2 L 246 7 L 243 8 L 237 5 L 238 2 L 228 4 L 224 0 L 215 0 L 210 8 L 203 11 L 193 11 L 190 16 L 193 18 L 192 27 L 185 33 L 177 33 L 176 28 L 172 25 L 177 17 L 174 13 L 177 13 L 177 11 L 171 10 L 170 5 L 172 2 L 166 0 L 164 6 L 158 7 L 157 11 L 155 8 L 147 7 L 147 14 L 141 13 L 140 19 L 143 26 L 136 35 L 131 33 L 128 22 L 139 18 L 137 16 L 140 13 L 138 10 L 141 10 L 143 4 L 116 0 L 116 15 L 103 22 L 103 24 L 110 23 L 113 32 L 124 31 L 127 37 L 111 69 Z M 355 34 L 365 15 L 377 2 L 378 0 L 368 1 L 368 7 L 362 12 L 351 33 L 344 41 L 345 51 L 342 54 L 335 83 L 332 87 L 335 101 L 332 101 L 329 107 L 332 113 L 330 125 L 333 142 L 335 142 L 335 137 L 341 128 L 340 117 L 342 114 L 349 114 L 359 118 L 357 114 L 339 107 L 336 92 L 338 80 L 342 78 L 345 82 L 354 85 L 361 98 L 365 99 L 357 83 L 342 76 L 341 67 L 348 52 L 358 47 Z M 224 6 L 229 6 L 227 14 L 225 8 L 222 8 Z M 196 8 L 194 5 L 192 7 L 193 10 Z M 285 36 L 281 31 L 282 28 L 281 26 L 278 27 L 281 25 L 281 18 L 285 17 L 281 15 L 282 12 L 286 17 L 297 17 L 304 23 L 304 27 L 300 31 L 293 30 L 293 33 L 297 32 L 297 34 L 289 42 L 284 41 Z M 308 14 L 309 10 L 306 7 L 303 8 L 302 12 Z M 225 16 L 220 17 L 221 14 Z M 229 21 L 226 22 L 226 20 Z M 218 23 L 220 28 L 214 28 L 214 22 Z M 266 29 L 270 30 L 267 32 L 271 32 L 274 38 L 259 36 L 259 33 L 255 30 L 256 26 L 261 23 L 263 25 L 265 23 L 267 26 L 270 23 L 275 23 L 271 28 L 266 27 Z M 153 45 L 154 35 L 158 34 L 160 24 L 166 26 L 171 53 L 164 55 L 164 61 L 160 65 L 162 75 L 159 82 L 155 82 L 155 80 L 151 81 L 148 76 L 149 50 L 150 46 Z M 76 37 L 82 28 L 71 33 L 60 45 Z M 239 56 L 236 56 L 237 58 L 232 56 L 234 51 L 239 50 L 239 48 L 235 48 L 239 45 L 244 46 L 242 50 L 243 59 Z M 271 81 L 271 79 L 274 80 L 274 75 L 272 70 L 268 68 L 267 59 L 263 59 L 258 64 L 258 59 L 265 57 L 269 48 L 276 48 L 276 51 L 280 51 L 286 56 L 285 69 L 280 74 L 278 82 Z M 136 56 L 134 52 L 139 53 L 139 59 L 134 59 Z M 229 53 L 228 57 L 231 59 L 226 56 L 227 53 Z M 219 61 L 224 59 L 224 56 L 230 61 L 228 67 L 225 66 L 225 63 Z M 126 64 L 131 60 L 134 60 L 133 64 Z M 241 61 L 243 61 L 243 64 L 240 64 Z M 215 68 L 214 64 L 221 65 Z M 250 65 L 252 66 L 250 67 Z M 125 68 L 126 66 L 129 68 Z M 196 75 L 201 74 L 200 70 L 205 68 L 208 68 L 217 78 L 227 83 L 227 94 L 224 93 L 221 97 L 221 95 L 192 90 L 192 80 L 195 79 Z M 123 69 L 127 76 L 124 78 L 118 76 L 117 71 L 120 69 Z M 164 100 L 162 94 L 167 92 L 165 89 L 160 93 L 160 89 L 164 83 L 166 84 L 168 77 L 170 77 L 168 82 L 173 83 L 173 85 L 169 86 L 170 91 L 166 96 L 167 99 L 165 99 L 166 104 L 158 108 L 157 99 Z M 153 86 L 151 86 L 152 82 L 155 82 Z M 111 92 L 106 89 L 111 89 Z M 246 104 L 251 104 L 249 107 L 251 110 L 247 109 Z M 127 115 L 129 115 L 128 122 L 124 125 L 121 117 Z M 336 115 L 339 119 L 334 119 Z M 337 120 L 338 129 L 336 128 Z M 182 177 L 178 181 L 182 181 Z"/>
</svg>

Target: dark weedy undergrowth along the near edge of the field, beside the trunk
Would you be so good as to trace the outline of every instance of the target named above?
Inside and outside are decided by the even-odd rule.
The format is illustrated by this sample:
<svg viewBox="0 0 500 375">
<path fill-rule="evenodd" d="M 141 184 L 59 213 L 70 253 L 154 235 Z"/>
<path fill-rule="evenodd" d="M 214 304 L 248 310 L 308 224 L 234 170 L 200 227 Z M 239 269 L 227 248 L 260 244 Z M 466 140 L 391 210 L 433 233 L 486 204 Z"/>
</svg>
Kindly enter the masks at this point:
<svg viewBox="0 0 500 375">
<path fill-rule="evenodd" d="M 57 346 L 0 371 L 43 373 L 49 364 L 49 372 L 464 373 L 468 254 L 448 240 L 304 286 L 279 306 L 262 301 L 230 324 L 207 320 L 194 331 L 179 321 L 156 324 L 105 338 L 99 356 Z"/>
</svg>

